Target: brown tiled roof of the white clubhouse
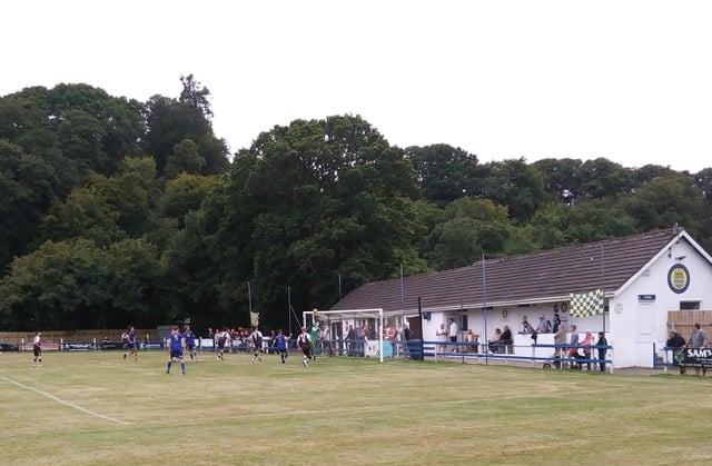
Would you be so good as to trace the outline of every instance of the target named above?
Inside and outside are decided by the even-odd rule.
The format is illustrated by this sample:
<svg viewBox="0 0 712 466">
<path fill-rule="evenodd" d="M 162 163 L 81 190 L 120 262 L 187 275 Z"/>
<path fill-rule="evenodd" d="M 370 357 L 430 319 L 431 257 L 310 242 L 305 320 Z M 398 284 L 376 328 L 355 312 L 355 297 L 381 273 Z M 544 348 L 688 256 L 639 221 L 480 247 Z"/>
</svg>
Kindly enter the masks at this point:
<svg viewBox="0 0 712 466">
<path fill-rule="evenodd" d="M 477 309 L 567 300 L 570 293 L 621 288 L 675 238 L 652 231 L 585 245 L 477 261 L 472 266 L 366 284 L 332 309 Z M 484 271 L 484 274 L 483 274 Z M 483 286 L 483 275 L 486 287 Z M 486 289 L 486 296 L 483 293 Z M 402 303 L 403 296 L 403 303 Z"/>
</svg>

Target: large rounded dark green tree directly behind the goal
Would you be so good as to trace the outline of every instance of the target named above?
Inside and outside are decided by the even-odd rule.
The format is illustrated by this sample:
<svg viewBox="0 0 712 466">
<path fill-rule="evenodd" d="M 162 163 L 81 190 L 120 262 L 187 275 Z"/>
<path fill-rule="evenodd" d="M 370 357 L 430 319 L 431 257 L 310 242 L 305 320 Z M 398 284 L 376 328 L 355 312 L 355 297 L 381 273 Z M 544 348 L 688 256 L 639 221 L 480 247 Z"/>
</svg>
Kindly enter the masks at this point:
<svg viewBox="0 0 712 466">
<path fill-rule="evenodd" d="M 283 316 L 287 286 L 297 308 L 328 307 L 337 276 L 397 276 L 417 257 L 418 194 L 403 151 L 360 117 L 296 120 L 236 155 L 214 248 L 231 282 L 255 284 L 265 316 Z M 246 307 L 245 291 L 235 299 Z"/>
</svg>

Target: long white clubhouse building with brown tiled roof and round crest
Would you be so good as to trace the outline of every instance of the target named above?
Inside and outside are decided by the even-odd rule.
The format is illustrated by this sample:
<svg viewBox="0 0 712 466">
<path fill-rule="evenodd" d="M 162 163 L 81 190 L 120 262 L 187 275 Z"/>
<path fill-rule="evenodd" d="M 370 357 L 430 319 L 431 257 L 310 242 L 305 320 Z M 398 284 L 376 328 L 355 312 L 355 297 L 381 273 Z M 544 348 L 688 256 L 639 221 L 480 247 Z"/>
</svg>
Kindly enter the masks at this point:
<svg viewBox="0 0 712 466">
<path fill-rule="evenodd" d="M 572 294 L 597 289 L 601 314 L 572 313 Z M 451 318 L 458 341 L 472 329 L 485 343 L 508 326 L 514 354 L 537 357 L 553 349 L 533 348 L 523 321 L 536 328 L 541 315 L 551 321 L 557 315 L 566 331 L 576 325 L 581 337 L 604 331 L 613 367 L 655 367 L 669 329 L 688 339 L 700 323 L 712 335 L 712 257 L 673 228 L 369 282 L 332 309 L 373 308 L 383 308 L 390 325 L 407 320 L 424 341 L 436 341 Z M 540 334 L 537 343 L 553 344 L 553 335 Z"/>
</svg>

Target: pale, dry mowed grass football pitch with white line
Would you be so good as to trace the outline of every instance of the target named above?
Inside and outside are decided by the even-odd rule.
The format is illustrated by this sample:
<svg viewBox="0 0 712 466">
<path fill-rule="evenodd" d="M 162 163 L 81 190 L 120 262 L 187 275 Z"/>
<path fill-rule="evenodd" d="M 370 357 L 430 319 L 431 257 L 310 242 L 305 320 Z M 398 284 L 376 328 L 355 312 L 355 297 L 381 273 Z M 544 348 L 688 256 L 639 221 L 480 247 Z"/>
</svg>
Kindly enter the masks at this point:
<svg viewBox="0 0 712 466">
<path fill-rule="evenodd" d="M 2 465 L 710 462 L 712 378 L 211 353 L 0 354 Z"/>
</svg>

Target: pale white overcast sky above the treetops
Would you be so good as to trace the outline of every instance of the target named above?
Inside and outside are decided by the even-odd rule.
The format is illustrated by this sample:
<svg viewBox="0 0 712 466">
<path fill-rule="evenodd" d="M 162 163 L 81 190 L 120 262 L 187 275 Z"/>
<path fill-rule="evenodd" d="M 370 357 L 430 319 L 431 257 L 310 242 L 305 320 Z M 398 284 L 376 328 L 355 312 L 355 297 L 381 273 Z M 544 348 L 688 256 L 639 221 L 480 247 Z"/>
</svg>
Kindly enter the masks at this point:
<svg viewBox="0 0 712 466">
<path fill-rule="evenodd" d="M 0 96 L 83 82 L 140 101 L 209 89 L 231 152 L 358 115 L 481 162 L 712 167 L 706 0 L 2 2 Z"/>
</svg>

